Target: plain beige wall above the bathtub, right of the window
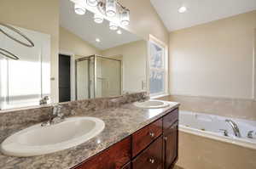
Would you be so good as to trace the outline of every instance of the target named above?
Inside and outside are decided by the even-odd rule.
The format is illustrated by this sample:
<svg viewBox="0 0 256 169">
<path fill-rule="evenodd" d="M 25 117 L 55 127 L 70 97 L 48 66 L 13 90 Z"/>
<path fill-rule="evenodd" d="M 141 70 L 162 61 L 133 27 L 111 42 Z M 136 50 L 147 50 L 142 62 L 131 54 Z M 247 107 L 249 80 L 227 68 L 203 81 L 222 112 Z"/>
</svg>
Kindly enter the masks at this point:
<svg viewBox="0 0 256 169">
<path fill-rule="evenodd" d="M 170 33 L 170 93 L 253 98 L 256 11 Z"/>
</svg>

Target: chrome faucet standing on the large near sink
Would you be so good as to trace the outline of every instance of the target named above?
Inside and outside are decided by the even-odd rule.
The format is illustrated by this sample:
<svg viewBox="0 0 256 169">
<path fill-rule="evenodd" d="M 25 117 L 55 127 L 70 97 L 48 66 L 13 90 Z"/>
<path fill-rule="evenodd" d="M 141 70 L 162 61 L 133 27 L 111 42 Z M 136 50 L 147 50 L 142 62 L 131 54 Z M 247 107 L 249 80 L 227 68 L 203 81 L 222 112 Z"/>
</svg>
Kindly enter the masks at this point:
<svg viewBox="0 0 256 169">
<path fill-rule="evenodd" d="M 45 121 L 41 124 L 42 127 L 55 125 L 65 120 L 64 114 L 61 113 L 62 106 L 56 104 L 53 106 L 52 114 L 49 115 L 49 121 Z"/>
</svg>

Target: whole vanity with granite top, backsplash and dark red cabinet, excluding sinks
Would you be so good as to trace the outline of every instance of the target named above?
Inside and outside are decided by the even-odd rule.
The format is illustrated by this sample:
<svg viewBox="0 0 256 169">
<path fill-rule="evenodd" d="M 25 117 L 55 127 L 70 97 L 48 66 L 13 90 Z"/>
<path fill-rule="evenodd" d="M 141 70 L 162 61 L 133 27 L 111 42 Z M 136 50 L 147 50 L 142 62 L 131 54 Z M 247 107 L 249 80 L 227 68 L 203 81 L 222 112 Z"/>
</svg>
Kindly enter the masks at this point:
<svg viewBox="0 0 256 169">
<path fill-rule="evenodd" d="M 46 155 L 15 157 L 0 153 L 0 168 L 17 169 L 169 169 L 177 161 L 178 103 L 144 109 L 137 102 L 145 93 L 67 102 L 62 113 L 70 117 L 95 117 L 105 128 L 84 143 Z M 86 105 L 84 107 L 84 105 Z M 47 121 L 52 107 L 17 110 L 0 115 L 0 140 Z M 9 122 L 15 125 L 9 125 Z M 61 125 L 61 123 L 59 123 Z M 58 125 L 58 124 L 57 124 Z M 49 138 L 50 139 L 50 138 Z"/>
</svg>

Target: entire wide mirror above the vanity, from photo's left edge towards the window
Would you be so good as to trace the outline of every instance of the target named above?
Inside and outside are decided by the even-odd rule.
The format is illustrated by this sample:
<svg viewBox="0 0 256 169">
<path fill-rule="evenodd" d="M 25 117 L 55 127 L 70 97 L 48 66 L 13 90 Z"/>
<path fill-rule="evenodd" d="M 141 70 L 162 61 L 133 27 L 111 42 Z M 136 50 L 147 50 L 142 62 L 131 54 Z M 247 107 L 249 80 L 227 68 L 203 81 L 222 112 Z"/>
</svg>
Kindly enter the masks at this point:
<svg viewBox="0 0 256 169">
<path fill-rule="evenodd" d="M 37 20 L 29 16 L 38 3 L 26 6 L 27 14 L 9 16 L 15 1 L 1 8 L 0 112 L 146 91 L 148 42 L 120 26 L 113 30 L 91 7 L 80 15 L 73 2 L 59 2 L 60 17 L 40 11 Z M 49 17 L 57 19 L 46 23 Z"/>
</svg>

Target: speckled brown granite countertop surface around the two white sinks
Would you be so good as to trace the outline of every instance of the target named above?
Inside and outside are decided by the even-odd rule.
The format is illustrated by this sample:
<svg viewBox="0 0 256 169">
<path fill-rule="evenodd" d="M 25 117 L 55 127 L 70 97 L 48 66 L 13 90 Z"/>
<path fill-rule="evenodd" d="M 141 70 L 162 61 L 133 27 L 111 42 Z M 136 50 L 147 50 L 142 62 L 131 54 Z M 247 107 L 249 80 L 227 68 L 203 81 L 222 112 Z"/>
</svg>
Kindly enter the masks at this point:
<svg viewBox="0 0 256 169">
<path fill-rule="evenodd" d="M 133 104 L 123 104 L 120 107 L 94 112 L 84 112 L 79 116 L 98 117 L 105 122 L 104 130 L 95 138 L 71 149 L 65 149 L 49 155 L 33 157 L 11 157 L 0 153 L 1 169 L 69 169 L 87 160 L 93 155 L 107 149 L 123 138 L 147 126 L 149 123 L 176 109 L 179 104 L 163 109 L 140 109 Z M 76 115 L 78 116 L 78 115 Z"/>
</svg>

